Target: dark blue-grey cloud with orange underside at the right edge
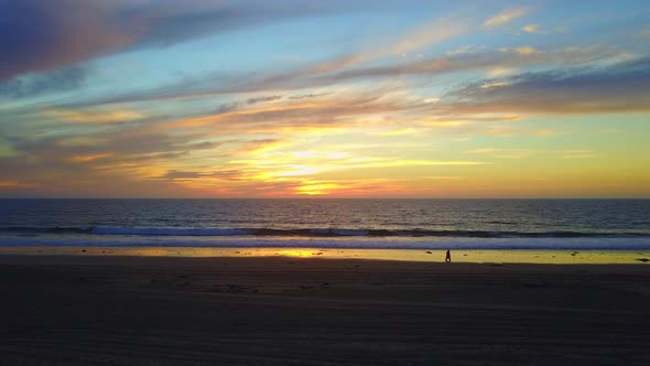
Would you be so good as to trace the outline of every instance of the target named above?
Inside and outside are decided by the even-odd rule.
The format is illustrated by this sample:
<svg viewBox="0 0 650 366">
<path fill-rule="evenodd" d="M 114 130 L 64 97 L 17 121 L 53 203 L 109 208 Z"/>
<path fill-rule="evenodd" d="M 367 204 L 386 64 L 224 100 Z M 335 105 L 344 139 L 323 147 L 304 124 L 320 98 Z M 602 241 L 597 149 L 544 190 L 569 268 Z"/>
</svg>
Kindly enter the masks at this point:
<svg viewBox="0 0 650 366">
<path fill-rule="evenodd" d="M 486 87 L 496 85 L 494 87 Z M 614 114 L 650 110 L 650 58 L 470 83 L 448 110 L 464 112 Z"/>
</svg>

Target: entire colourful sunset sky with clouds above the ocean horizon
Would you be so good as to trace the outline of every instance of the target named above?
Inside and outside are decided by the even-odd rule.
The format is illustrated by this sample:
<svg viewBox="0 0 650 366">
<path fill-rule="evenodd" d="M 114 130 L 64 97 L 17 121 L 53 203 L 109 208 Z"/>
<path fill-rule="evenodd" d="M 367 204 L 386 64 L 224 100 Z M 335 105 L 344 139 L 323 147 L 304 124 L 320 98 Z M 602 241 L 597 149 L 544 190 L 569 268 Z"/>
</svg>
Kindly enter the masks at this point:
<svg viewBox="0 0 650 366">
<path fill-rule="evenodd" d="M 0 197 L 650 197 L 650 6 L 0 0 Z"/>
</svg>

